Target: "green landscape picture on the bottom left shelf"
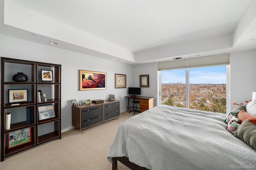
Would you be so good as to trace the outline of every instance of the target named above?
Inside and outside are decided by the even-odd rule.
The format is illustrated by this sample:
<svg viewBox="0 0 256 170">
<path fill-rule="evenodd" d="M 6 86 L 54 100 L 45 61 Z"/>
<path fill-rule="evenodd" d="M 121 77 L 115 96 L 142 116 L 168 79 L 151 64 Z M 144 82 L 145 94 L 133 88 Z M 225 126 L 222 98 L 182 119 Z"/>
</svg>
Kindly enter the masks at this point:
<svg viewBox="0 0 256 170">
<path fill-rule="evenodd" d="M 8 133 L 8 149 L 31 142 L 31 127 Z"/>
</svg>

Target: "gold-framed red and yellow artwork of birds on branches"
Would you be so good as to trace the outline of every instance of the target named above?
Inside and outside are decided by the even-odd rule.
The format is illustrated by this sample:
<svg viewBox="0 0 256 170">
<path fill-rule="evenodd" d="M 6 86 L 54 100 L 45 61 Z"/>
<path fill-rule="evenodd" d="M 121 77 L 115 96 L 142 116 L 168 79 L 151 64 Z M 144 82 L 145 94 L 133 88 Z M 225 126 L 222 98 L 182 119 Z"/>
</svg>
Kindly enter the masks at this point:
<svg viewBox="0 0 256 170">
<path fill-rule="evenodd" d="M 106 89 L 106 78 L 107 73 L 80 70 L 79 90 Z"/>
</svg>

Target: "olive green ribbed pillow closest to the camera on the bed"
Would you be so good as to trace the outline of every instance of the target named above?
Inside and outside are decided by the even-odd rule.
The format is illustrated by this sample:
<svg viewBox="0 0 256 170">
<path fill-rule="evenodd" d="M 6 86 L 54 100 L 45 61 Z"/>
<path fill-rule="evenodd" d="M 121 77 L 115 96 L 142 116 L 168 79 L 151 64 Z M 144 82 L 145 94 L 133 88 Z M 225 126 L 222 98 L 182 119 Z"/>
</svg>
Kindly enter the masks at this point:
<svg viewBox="0 0 256 170">
<path fill-rule="evenodd" d="M 244 121 L 236 130 L 234 136 L 244 141 L 256 150 L 256 125 L 250 121 Z"/>
</svg>

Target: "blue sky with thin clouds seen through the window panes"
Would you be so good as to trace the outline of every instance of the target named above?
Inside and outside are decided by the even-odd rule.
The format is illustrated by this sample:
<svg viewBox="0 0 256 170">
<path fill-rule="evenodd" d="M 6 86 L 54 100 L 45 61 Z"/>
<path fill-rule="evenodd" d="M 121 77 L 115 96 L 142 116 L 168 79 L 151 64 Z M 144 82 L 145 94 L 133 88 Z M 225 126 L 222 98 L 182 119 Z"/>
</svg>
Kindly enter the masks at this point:
<svg viewBox="0 0 256 170">
<path fill-rule="evenodd" d="M 186 69 L 162 71 L 162 83 L 186 83 Z M 226 84 L 226 65 L 190 69 L 190 84 Z"/>
</svg>

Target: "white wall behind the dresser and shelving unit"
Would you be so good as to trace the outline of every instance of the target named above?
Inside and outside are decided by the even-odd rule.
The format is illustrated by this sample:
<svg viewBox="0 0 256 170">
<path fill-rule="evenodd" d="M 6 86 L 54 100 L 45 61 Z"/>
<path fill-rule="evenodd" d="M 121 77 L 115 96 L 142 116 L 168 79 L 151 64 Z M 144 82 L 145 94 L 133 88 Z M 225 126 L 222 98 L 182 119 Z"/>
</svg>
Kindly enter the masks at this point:
<svg viewBox="0 0 256 170">
<path fill-rule="evenodd" d="M 115 89 L 115 73 L 126 75 L 126 87 L 132 86 L 132 65 L 100 59 L 48 45 L 0 35 L 0 56 L 62 65 L 61 116 L 62 132 L 72 127 L 72 100 L 107 99 L 114 94 L 120 100 L 120 110 L 126 109 L 128 88 Z M 79 91 L 79 70 L 107 73 L 107 89 Z"/>
</svg>

